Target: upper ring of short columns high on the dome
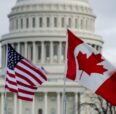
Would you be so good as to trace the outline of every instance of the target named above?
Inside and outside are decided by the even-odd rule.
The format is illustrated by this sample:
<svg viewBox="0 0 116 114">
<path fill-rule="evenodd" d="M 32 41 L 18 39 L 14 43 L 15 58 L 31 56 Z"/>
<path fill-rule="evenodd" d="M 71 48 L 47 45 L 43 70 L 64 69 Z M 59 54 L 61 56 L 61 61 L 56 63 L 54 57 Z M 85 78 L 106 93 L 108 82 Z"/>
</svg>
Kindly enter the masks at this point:
<svg viewBox="0 0 116 114">
<path fill-rule="evenodd" d="M 37 28 L 64 28 L 65 24 L 71 28 L 94 31 L 95 19 L 89 17 L 14 17 L 10 18 L 10 31 Z"/>
</svg>

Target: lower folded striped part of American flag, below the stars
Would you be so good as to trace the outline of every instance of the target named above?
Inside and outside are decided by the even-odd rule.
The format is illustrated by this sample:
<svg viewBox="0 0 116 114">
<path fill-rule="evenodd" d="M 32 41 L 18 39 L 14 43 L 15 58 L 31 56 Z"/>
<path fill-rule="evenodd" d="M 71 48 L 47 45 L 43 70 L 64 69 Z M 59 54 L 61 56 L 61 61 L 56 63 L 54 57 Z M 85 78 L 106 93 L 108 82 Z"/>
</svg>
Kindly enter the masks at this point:
<svg viewBox="0 0 116 114">
<path fill-rule="evenodd" d="M 18 80 L 16 80 L 14 71 L 9 70 L 9 69 L 7 69 L 5 87 L 9 91 L 17 93 L 17 96 L 19 99 L 27 100 L 27 101 L 33 100 L 34 92 L 37 89 L 37 87 L 26 85 L 24 81 L 19 82 Z"/>
</svg>

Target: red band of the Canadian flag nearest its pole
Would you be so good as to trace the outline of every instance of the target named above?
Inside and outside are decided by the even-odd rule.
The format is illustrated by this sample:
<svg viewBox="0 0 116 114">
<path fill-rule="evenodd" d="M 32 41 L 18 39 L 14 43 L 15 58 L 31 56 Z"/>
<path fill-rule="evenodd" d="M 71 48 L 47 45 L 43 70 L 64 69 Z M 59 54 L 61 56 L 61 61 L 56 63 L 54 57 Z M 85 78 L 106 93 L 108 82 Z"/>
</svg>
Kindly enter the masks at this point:
<svg viewBox="0 0 116 114">
<path fill-rule="evenodd" d="M 77 38 L 77 39 L 76 39 Z M 76 40 L 75 40 L 76 39 Z M 74 57 L 74 49 L 77 45 L 83 43 L 70 30 L 68 30 L 68 50 L 67 50 L 67 78 L 75 80 L 76 77 L 76 62 Z"/>
</svg>

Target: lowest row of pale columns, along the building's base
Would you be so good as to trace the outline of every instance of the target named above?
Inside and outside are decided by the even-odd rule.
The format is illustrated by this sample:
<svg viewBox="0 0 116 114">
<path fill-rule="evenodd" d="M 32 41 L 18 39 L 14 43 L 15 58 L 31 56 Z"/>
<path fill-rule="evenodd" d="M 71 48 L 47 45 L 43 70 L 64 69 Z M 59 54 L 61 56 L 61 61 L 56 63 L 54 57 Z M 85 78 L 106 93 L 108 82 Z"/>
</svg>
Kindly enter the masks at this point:
<svg viewBox="0 0 116 114">
<path fill-rule="evenodd" d="M 19 112 L 19 114 L 22 114 L 22 100 L 17 100 L 17 95 L 14 94 L 14 97 L 13 97 L 13 102 L 14 102 L 14 110 L 13 110 L 13 114 L 17 114 Z M 80 99 L 78 99 L 78 93 L 75 93 L 75 114 L 78 114 L 78 101 Z M 1 93 L 1 114 L 4 114 L 4 93 Z M 18 102 L 18 105 L 19 107 L 17 107 L 17 102 Z M 48 114 L 48 95 L 47 93 L 44 94 L 44 102 L 45 102 L 45 114 Z M 60 96 L 60 92 L 57 93 L 57 114 L 61 114 L 61 96 Z M 33 102 L 32 102 L 32 113 L 31 114 L 35 114 L 35 97 L 33 99 Z"/>
</svg>

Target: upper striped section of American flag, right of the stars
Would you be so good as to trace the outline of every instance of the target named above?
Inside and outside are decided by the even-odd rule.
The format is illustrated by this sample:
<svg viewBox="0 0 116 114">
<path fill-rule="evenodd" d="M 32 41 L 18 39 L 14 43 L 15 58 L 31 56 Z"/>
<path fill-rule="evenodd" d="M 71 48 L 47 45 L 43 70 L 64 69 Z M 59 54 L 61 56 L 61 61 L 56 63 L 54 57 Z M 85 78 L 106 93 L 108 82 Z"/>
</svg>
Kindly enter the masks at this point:
<svg viewBox="0 0 116 114">
<path fill-rule="evenodd" d="M 26 59 L 22 59 L 20 62 L 18 62 L 14 71 L 16 77 L 27 81 L 27 85 L 38 87 L 47 80 L 46 75 Z M 18 81 L 20 82 L 20 80 Z"/>
</svg>

